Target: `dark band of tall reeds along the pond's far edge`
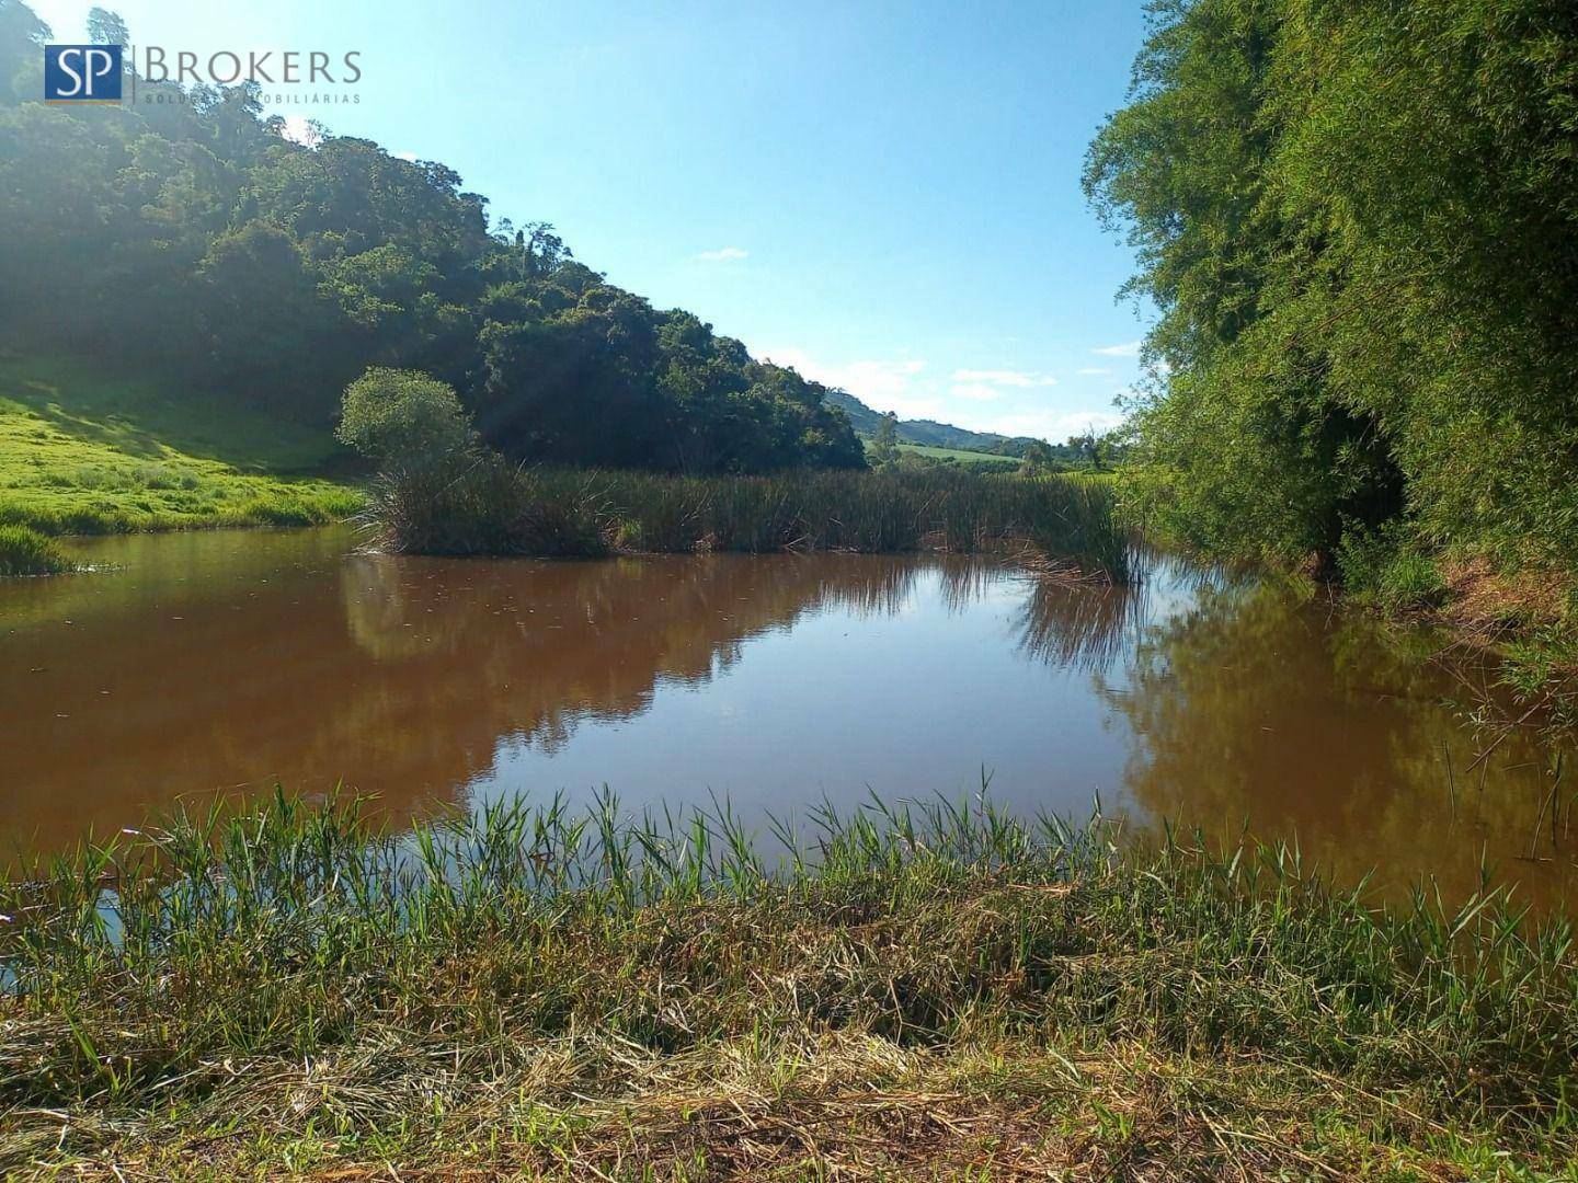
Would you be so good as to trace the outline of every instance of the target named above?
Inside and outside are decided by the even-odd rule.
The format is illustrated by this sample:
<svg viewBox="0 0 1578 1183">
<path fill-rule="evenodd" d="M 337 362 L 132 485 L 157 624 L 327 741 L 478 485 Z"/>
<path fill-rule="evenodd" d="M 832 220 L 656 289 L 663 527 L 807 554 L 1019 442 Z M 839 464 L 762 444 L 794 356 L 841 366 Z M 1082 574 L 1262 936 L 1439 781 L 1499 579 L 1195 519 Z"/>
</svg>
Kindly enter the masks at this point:
<svg viewBox="0 0 1578 1183">
<path fill-rule="evenodd" d="M 385 475 L 368 521 L 412 554 L 596 555 L 1024 550 L 1043 569 L 1124 582 L 1130 543 L 1108 483 L 948 470 L 664 476 L 514 468 Z"/>
</svg>

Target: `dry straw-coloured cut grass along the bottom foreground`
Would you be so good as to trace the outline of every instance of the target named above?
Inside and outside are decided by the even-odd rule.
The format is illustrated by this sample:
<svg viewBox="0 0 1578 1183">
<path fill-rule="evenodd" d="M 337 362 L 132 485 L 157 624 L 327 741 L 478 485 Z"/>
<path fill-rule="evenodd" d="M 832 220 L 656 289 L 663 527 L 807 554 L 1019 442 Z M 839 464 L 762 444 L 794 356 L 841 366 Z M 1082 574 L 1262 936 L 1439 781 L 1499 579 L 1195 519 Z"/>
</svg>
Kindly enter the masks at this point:
<svg viewBox="0 0 1578 1183">
<path fill-rule="evenodd" d="M 38 1115 L 35 1164 L 99 1178 L 1471 1177 L 1456 1139 L 1430 1148 L 1439 1131 L 1335 1077 L 1135 1041 L 937 1052 L 824 1033 L 653 1055 L 567 1036 L 486 1080 L 385 1043 L 235 1066 L 164 1123 L 63 1117 Z M 62 1153 L 77 1140 L 96 1148 Z"/>
</svg>

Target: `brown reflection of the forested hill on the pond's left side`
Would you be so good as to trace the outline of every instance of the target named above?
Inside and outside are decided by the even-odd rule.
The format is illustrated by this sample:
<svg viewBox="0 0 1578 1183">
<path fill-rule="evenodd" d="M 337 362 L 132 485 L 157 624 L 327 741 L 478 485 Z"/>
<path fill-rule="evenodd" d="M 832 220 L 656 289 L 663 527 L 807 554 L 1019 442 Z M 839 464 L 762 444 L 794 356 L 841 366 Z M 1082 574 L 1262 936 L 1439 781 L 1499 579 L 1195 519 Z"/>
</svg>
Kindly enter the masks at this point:
<svg viewBox="0 0 1578 1183">
<path fill-rule="evenodd" d="M 286 538 L 281 546 L 290 539 Z M 300 546 L 311 546 L 305 539 Z M 276 779 L 376 792 L 396 820 L 489 771 L 697 683 L 802 614 L 884 612 L 922 569 L 882 557 L 294 563 L 156 580 L 17 634 L 0 680 L 6 831 L 49 847 L 151 806 Z M 114 694 L 109 689 L 114 689 Z M 11 730 L 14 729 L 14 730 Z"/>
</svg>

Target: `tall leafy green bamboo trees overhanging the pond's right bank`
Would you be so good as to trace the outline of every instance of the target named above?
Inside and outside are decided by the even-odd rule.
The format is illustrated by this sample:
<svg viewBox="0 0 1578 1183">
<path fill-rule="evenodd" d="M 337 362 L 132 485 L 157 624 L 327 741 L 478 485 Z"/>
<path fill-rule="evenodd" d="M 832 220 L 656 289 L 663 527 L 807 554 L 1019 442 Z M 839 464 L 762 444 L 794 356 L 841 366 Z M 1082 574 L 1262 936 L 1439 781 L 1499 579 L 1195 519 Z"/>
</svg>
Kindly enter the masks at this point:
<svg viewBox="0 0 1578 1183">
<path fill-rule="evenodd" d="M 1425 590 L 1578 566 L 1578 5 L 1161 0 L 1086 185 L 1161 311 L 1142 522 Z"/>
</svg>

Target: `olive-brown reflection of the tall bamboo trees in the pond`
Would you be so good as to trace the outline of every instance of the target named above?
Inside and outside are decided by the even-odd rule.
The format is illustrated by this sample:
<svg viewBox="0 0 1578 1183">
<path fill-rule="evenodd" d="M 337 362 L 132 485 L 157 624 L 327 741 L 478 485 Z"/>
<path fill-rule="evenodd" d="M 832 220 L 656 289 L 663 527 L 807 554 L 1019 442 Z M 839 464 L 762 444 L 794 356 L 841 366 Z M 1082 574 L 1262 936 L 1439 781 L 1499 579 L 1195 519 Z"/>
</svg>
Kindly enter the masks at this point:
<svg viewBox="0 0 1578 1183">
<path fill-rule="evenodd" d="M 1206 590 L 1149 629 L 1114 692 L 1135 735 L 1127 782 L 1158 819 L 1297 836 L 1340 879 L 1373 868 L 1398 890 L 1433 872 L 1466 896 L 1483 850 L 1524 896 L 1554 899 L 1575 882 L 1572 845 L 1545 836 L 1548 861 L 1526 860 L 1551 756 L 1516 737 L 1471 770 L 1480 737 L 1455 686 L 1363 618 L 1273 587 Z"/>
</svg>

